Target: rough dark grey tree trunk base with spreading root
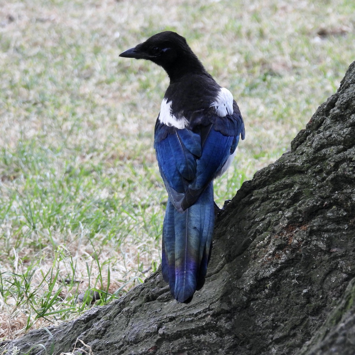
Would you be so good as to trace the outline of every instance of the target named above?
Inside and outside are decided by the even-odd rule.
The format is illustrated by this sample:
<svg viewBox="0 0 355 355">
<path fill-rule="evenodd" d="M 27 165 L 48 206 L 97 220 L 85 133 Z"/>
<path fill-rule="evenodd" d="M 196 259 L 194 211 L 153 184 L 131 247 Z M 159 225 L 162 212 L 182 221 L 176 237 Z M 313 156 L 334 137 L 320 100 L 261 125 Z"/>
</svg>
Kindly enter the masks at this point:
<svg viewBox="0 0 355 355">
<path fill-rule="evenodd" d="M 355 62 L 291 151 L 218 217 L 206 283 L 189 304 L 171 299 L 158 270 L 52 336 L 34 330 L 2 349 L 54 344 L 60 354 L 79 338 L 94 355 L 354 354 L 354 252 Z"/>
</svg>

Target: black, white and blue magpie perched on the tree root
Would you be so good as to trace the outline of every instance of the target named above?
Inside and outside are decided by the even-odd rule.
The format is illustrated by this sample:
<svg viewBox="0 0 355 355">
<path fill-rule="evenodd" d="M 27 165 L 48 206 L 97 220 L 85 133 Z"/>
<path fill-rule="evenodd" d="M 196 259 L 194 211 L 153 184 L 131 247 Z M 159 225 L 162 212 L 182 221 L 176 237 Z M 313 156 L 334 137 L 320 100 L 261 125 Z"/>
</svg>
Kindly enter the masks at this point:
<svg viewBox="0 0 355 355">
<path fill-rule="evenodd" d="M 231 92 L 214 80 L 178 33 L 154 34 L 119 56 L 152 61 L 170 79 L 154 129 L 169 196 L 162 274 L 171 295 L 188 303 L 204 285 L 211 258 L 217 206 L 213 180 L 228 169 L 240 137 L 244 140 L 244 121 Z"/>
</svg>

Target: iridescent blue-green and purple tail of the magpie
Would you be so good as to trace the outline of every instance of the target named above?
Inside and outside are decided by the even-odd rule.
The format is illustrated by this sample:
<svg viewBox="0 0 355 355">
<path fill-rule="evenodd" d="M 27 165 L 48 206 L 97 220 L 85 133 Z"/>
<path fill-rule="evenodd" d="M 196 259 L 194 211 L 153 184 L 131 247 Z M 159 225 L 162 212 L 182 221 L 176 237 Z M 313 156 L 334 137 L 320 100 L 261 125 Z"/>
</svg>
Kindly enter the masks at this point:
<svg viewBox="0 0 355 355">
<path fill-rule="evenodd" d="M 168 201 L 163 224 L 162 271 L 171 294 L 179 302 L 189 301 L 204 284 L 213 225 L 212 182 L 184 213 Z"/>
</svg>

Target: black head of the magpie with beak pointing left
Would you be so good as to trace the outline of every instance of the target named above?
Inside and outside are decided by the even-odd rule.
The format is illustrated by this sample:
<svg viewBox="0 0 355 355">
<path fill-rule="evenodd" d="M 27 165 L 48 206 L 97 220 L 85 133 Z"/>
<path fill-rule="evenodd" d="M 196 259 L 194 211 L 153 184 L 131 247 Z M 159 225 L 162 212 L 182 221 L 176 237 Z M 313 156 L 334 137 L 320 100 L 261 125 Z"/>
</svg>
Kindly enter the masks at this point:
<svg viewBox="0 0 355 355">
<path fill-rule="evenodd" d="M 160 32 L 127 49 L 120 57 L 147 59 L 162 66 L 170 79 L 191 71 L 205 71 L 186 39 L 171 31 Z"/>
</svg>

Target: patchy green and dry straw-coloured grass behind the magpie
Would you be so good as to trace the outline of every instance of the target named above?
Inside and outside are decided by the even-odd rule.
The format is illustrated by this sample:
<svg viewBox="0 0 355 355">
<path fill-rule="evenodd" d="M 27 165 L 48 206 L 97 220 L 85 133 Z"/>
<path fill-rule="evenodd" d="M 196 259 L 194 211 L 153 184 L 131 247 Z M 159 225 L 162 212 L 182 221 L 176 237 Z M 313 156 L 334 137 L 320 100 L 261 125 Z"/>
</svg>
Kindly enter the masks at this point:
<svg viewBox="0 0 355 355">
<path fill-rule="evenodd" d="M 354 60 L 350 0 L 0 5 L 0 340 L 107 304 L 160 263 L 168 78 L 121 51 L 174 30 L 234 94 L 246 140 L 219 205 L 289 149 Z"/>
</svg>

